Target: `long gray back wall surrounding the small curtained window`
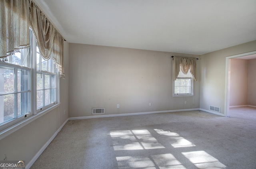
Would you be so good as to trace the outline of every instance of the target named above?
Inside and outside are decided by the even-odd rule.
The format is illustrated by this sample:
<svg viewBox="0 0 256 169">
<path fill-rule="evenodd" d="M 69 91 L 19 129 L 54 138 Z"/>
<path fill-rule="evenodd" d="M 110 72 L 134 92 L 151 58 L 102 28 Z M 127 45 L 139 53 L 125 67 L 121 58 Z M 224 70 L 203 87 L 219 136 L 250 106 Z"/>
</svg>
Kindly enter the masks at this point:
<svg viewBox="0 0 256 169">
<path fill-rule="evenodd" d="M 171 59 L 199 55 L 77 43 L 69 55 L 70 117 L 92 116 L 92 108 L 105 108 L 105 115 L 199 108 L 200 60 L 193 105 L 192 96 L 172 96 Z"/>
</svg>

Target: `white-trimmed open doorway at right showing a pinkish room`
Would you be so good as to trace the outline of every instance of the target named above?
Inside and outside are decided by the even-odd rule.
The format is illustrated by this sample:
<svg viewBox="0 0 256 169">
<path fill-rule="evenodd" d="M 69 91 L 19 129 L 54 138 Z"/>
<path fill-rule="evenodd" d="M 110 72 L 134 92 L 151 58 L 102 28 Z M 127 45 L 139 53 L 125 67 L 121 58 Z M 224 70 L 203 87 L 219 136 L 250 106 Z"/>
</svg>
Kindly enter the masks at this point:
<svg viewBox="0 0 256 169">
<path fill-rule="evenodd" d="M 226 57 L 225 116 L 234 108 L 255 107 L 256 51 Z M 232 108 L 232 111 L 230 111 Z"/>
</svg>

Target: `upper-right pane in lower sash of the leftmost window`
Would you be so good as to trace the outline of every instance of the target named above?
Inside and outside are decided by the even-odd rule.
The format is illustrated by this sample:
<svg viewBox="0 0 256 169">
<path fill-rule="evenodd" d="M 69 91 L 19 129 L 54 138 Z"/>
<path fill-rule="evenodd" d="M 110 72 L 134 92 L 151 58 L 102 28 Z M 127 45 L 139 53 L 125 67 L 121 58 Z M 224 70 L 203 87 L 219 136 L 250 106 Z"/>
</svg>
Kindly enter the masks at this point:
<svg viewBox="0 0 256 169">
<path fill-rule="evenodd" d="M 29 71 L 24 69 L 18 69 L 17 75 L 17 87 L 18 92 L 29 90 Z"/>
</svg>

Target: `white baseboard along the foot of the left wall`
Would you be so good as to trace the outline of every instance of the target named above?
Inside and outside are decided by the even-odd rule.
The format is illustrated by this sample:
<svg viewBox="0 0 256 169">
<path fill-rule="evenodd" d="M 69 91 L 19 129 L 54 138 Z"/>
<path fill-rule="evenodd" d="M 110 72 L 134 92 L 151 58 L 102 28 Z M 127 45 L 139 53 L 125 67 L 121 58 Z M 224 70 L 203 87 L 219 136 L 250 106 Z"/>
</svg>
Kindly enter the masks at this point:
<svg viewBox="0 0 256 169">
<path fill-rule="evenodd" d="M 68 122 L 68 119 L 60 126 L 60 128 L 53 134 L 53 136 L 44 144 L 44 146 L 36 153 L 36 155 L 26 164 L 26 169 L 29 169 L 36 159 L 42 154 L 42 152 L 46 149 L 46 147 L 52 142 L 52 140 L 57 136 L 58 132 L 64 127 L 64 125 Z"/>
</svg>

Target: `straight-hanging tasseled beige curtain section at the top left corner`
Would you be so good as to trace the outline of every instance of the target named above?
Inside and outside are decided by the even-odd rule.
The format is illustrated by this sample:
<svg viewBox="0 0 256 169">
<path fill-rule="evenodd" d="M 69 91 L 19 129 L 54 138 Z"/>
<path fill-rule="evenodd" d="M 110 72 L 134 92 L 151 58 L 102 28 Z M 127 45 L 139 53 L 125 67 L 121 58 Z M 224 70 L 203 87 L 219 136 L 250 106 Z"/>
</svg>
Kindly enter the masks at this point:
<svg viewBox="0 0 256 169">
<path fill-rule="evenodd" d="M 29 0 L 0 0 L 0 61 L 28 47 Z"/>
</svg>

